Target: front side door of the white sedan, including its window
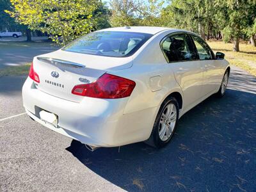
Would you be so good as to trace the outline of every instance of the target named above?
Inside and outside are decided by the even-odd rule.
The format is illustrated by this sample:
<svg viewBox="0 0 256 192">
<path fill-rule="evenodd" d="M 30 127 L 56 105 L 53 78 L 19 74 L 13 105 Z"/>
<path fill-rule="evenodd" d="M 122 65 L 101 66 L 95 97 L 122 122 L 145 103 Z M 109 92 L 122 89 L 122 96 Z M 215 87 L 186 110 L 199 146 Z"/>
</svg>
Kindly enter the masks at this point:
<svg viewBox="0 0 256 192">
<path fill-rule="evenodd" d="M 220 79 L 222 78 L 222 66 L 218 60 L 214 59 L 214 54 L 209 45 L 202 38 L 196 35 L 190 35 L 198 54 L 198 62 L 204 68 L 204 81 L 202 84 L 202 93 L 207 95 L 220 88 Z"/>
</svg>

